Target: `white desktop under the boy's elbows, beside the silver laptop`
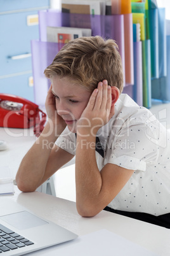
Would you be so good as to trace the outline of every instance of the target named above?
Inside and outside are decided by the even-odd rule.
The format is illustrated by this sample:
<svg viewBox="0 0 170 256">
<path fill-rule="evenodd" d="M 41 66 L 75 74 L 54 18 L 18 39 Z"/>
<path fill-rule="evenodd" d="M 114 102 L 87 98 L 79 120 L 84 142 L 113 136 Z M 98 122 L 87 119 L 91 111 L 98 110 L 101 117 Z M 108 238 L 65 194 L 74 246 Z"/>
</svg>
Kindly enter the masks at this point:
<svg viewBox="0 0 170 256">
<path fill-rule="evenodd" d="M 40 192 L 21 193 L 17 187 L 15 187 L 15 191 L 15 195 L 10 196 L 13 201 L 18 201 L 33 213 L 51 220 L 79 236 L 107 229 L 158 255 L 170 255 L 169 229 L 107 211 L 101 211 L 95 217 L 83 218 L 77 213 L 75 202 Z"/>
</svg>

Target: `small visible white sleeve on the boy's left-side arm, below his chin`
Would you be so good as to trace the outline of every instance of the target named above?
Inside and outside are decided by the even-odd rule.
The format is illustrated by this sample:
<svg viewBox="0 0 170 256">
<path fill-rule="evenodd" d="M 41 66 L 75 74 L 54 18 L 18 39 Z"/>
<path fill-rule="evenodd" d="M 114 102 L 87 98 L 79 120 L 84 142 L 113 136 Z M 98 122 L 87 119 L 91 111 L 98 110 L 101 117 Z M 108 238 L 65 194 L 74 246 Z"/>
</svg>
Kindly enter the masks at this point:
<svg viewBox="0 0 170 256">
<path fill-rule="evenodd" d="M 76 137 L 75 134 L 70 132 L 68 127 L 60 134 L 55 141 L 55 145 L 59 146 L 63 150 L 75 155 L 76 150 Z"/>
</svg>

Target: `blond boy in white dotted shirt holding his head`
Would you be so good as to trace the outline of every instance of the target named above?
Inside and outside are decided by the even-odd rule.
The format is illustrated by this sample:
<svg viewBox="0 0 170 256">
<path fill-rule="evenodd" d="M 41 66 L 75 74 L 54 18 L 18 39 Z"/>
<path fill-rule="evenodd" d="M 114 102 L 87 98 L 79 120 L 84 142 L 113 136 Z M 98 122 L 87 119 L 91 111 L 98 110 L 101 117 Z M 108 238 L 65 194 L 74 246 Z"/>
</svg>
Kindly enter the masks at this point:
<svg viewBox="0 0 170 256">
<path fill-rule="evenodd" d="M 170 136 L 150 111 L 121 94 L 114 40 L 70 41 L 44 74 L 51 80 L 48 122 L 20 164 L 18 188 L 36 190 L 75 155 L 80 215 L 105 208 L 170 228 Z"/>
</svg>

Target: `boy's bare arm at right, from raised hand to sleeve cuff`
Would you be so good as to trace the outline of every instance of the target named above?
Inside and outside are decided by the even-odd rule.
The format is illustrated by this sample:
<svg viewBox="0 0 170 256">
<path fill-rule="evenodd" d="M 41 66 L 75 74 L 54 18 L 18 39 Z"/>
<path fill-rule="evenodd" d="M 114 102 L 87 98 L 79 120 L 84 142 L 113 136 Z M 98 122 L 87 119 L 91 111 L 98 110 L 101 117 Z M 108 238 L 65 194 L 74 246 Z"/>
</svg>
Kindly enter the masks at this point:
<svg viewBox="0 0 170 256">
<path fill-rule="evenodd" d="M 114 115 L 116 90 L 112 94 L 107 83 L 99 83 L 89 99 L 77 125 L 77 148 L 75 155 L 75 183 L 77 211 L 84 217 L 99 213 L 126 185 L 133 170 L 115 164 L 106 164 L 99 171 L 96 164 L 96 132 Z M 114 89 L 113 89 L 114 90 Z M 114 99 L 115 97 L 115 99 Z M 84 120 L 90 121 L 88 128 Z M 83 143 L 82 143 L 83 141 Z"/>
</svg>

